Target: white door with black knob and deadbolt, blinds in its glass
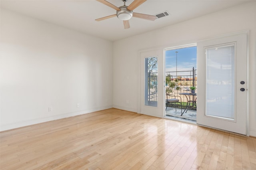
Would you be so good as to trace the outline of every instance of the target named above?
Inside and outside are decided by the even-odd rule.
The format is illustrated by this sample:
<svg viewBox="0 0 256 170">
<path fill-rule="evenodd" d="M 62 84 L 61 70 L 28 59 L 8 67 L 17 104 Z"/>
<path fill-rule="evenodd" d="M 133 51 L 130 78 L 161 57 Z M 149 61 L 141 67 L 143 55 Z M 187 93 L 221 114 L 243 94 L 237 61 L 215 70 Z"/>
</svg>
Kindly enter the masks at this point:
<svg viewBox="0 0 256 170">
<path fill-rule="evenodd" d="M 197 124 L 246 134 L 247 32 L 197 44 Z"/>
</svg>

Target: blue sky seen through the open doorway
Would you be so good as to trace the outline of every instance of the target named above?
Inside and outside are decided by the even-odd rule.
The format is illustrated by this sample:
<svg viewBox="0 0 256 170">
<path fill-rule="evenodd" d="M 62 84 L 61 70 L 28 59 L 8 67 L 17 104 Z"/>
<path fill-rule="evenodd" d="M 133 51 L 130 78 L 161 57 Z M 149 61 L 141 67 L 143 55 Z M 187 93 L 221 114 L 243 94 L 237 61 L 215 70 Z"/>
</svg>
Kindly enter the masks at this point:
<svg viewBox="0 0 256 170">
<path fill-rule="evenodd" d="M 193 67 L 196 69 L 196 47 L 187 47 L 173 49 L 165 52 L 165 69 L 167 71 L 176 71 L 176 51 L 177 53 L 177 71 L 190 71 Z M 178 73 L 179 75 L 179 73 Z"/>
</svg>

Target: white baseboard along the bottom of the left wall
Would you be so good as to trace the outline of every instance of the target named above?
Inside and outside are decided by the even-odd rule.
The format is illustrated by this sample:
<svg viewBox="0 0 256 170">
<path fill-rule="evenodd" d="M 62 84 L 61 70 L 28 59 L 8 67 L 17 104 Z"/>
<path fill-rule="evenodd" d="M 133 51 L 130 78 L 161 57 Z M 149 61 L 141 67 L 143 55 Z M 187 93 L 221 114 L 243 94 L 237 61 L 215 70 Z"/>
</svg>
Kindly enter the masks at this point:
<svg viewBox="0 0 256 170">
<path fill-rule="evenodd" d="M 98 107 L 98 108 L 88 109 L 88 110 L 79 111 L 79 112 L 64 113 L 64 114 L 61 114 L 61 115 L 54 115 L 54 116 L 51 116 L 51 117 L 44 117 L 44 118 L 41 118 L 41 119 L 32 119 L 32 120 L 16 122 L 16 123 L 8 124 L 8 125 L 1 125 L 0 131 L 25 127 L 25 126 L 28 126 L 28 125 L 35 125 L 35 124 L 38 124 L 38 123 L 54 121 L 54 120 L 63 119 L 63 118 L 67 118 L 67 117 L 83 115 L 83 114 L 92 113 L 92 112 L 95 112 L 95 111 L 110 109 L 112 107 L 113 107 L 112 105 L 109 105 L 109 106 Z"/>
</svg>

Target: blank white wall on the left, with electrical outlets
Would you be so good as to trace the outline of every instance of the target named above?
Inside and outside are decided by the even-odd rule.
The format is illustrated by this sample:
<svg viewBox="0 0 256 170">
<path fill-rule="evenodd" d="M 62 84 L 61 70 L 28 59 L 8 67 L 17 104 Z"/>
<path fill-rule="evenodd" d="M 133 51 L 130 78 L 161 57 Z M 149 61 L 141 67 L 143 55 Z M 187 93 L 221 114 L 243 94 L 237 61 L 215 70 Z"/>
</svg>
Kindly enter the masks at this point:
<svg viewBox="0 0 256 170">
<path fill-rule="evenodd" d="M 1 130 L 112 108 L 112 42 L 1 9 L 0 47 Z"/>
</svg>

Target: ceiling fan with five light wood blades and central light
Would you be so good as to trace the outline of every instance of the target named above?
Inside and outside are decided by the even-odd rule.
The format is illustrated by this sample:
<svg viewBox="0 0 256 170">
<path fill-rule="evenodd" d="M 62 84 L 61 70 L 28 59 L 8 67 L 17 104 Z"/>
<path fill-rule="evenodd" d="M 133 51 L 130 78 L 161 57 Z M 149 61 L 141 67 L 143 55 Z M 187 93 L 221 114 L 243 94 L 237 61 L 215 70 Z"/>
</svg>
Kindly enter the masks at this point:
<svg viewBox="0 0 256 170">
<path fill-rule="evenodd" d="M 120 20 L 123 20 L 124 29 L 130 28 L 129 20 L 132 17 L 142 18 L 145 20 L 152 20 L 152 21 L 154 21 L 157 18 L 154 15 L 147 15 L 147 14 L 140 14 L 140 13 L 132 12 L 132 10 L 134 10 L 135 8 L 140 6 L 146 0 L 134 0 L 129 6 L 125 5 L 125 2 L 127 0 L 122 0 L 124 2 L 124 6 L 120 6 L 119 8 L 117 6 L 114 6 L 113 4 L 111 4 L 110 2 L 108 2 L 106 0 L 96 0 L 96 1 L 101 2 L 102 4 L 105 4 L 105 5 L 116 10 L 116 14 L 110 15 L 110 16 L 105 16 L 103 18 L 98 18 L 98 19 L 96 19 L 96 21 L 102 21 L 102 20 L 106 20 L 108 18 L 117 16 L 117 18 L 119 18 Z"/>
</svg>

